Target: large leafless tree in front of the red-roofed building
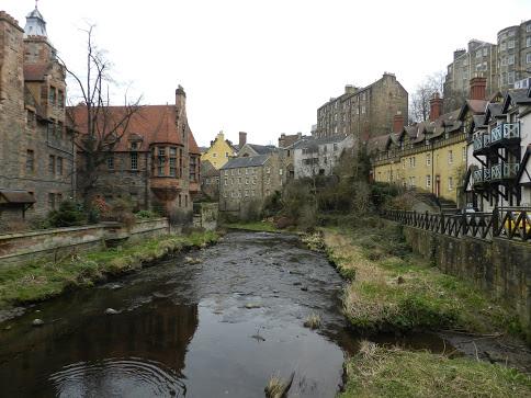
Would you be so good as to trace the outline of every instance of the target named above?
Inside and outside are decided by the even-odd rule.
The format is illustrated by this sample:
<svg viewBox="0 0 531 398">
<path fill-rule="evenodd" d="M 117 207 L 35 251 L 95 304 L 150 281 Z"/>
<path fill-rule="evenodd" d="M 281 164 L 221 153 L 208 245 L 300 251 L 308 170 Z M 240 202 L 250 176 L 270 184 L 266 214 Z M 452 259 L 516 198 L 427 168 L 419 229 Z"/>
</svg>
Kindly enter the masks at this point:
<svg viewBox="0 0 531 398">
<path fill-rule="evenodd" d="M 140 103 L 140 98 L 129 101 L 126 91 L 124 104 L 111 106 L 109 87 L 114 83 L 110 76 L 111 62 L 95 45 L 93 31 L 93 25 L 83 31 L 88 37 L 83 75 L 72 71 L 61 61 L 77 83 L 80 95 L 76 105 L 68 106 L 67 117 L 77 134 L 75 143 L 81 159 L 78 162 L 78 189 L 86 202 L 93 194 L 101 166 L 126 134 Z"/>
</svg>

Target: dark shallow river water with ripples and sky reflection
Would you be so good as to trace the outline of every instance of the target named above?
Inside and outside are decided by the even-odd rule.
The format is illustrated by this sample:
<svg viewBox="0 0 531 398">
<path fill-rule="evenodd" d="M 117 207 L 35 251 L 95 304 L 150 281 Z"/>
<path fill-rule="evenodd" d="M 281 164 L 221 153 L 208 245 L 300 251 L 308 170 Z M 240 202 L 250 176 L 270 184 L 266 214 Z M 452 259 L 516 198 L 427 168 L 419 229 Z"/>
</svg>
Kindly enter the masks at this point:
<svg viewBox="0 0 531 398">
<path fill-rule="evenodd" d="M 192 255 L 202 262 L 178 257 L 0 323 L 0 396 L 263 397 L 292 372 L 291 397 L 336 395 L 355 339 L 321 254 L 234 232 Z M 318 331 L 303 327 L 312 312 Z"/>
</svg>

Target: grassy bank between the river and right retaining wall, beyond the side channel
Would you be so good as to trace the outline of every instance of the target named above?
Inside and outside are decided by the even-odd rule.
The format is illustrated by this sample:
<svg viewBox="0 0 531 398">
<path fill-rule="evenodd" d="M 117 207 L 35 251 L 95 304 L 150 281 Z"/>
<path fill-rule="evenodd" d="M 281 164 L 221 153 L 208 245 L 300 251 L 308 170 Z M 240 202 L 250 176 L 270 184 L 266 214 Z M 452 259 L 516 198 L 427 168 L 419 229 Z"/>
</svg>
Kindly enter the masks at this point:
<svg viewBox="0 0 531 398">
<path fill-rule="evenodd" d="M 351 230 L 325 229 L 324 239 L 330 260 L 352 281 L 343 306 L 358 330 L 519 331 L 507 308 L 410 253 L 399 227 L 368 219 Z"/>
</svg>

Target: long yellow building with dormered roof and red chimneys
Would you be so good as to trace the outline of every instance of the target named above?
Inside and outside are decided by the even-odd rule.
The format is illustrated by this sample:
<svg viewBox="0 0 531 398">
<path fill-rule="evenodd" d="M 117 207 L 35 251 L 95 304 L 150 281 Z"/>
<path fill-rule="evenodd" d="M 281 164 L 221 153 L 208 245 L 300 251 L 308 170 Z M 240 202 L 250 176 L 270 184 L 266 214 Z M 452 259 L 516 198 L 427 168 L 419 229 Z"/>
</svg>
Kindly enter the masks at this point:
<svg viewBox="0 0 531 398">
<path fill-rule="evenodd" d="M 483 112 L 486 101 L 468 100 L 461 110 L 443 115 L 441 105 L 440 99 L 433 98 L 430 121 L 373 138 L 373 178 L 460 204 L 466 172 L 466 126 L 474 114 Z"/>
</svg>

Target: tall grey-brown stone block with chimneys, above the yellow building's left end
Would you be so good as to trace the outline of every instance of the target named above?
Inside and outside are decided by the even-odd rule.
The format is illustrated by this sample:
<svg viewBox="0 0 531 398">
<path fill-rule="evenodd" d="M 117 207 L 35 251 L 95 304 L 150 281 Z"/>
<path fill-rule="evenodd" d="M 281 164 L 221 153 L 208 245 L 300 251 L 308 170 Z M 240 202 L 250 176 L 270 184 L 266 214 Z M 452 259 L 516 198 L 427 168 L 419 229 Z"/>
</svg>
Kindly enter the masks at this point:
<svg viewBox="0 0 531 398">
<path fill-rule="evenodd" d="M 408 93 L 395 75 L 383 77 L 365 88 L 347 86 L 344 93 L 317 110 L 316 138 L 353 135 L 375 137 L 393 128 L 393 116 L 400 112 L 407 120 Z"/>
</svg>

